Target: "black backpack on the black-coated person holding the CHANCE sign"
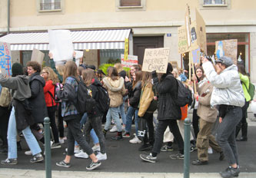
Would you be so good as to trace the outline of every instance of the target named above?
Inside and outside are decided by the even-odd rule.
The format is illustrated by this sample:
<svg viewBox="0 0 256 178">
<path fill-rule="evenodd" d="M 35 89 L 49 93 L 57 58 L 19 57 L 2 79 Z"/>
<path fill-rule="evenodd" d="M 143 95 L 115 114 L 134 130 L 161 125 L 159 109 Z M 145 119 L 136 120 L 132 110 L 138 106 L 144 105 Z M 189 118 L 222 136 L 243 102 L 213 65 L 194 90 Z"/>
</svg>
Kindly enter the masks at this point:
<svg viewBox="0 0 256 178">
<path fill-rule="evenodd" d="M 171 77 L 174 77 L 171 75 Z M 185 107 L 186 104 L 188 105 L 191 105 L 193 99 L 192 99 L 192 93 L 191 91 L 184 86 L 184 84 L 177 80 L 175 78 L 175 80 L 177 81 L 177 97 L 174 99 L 175 101 L 175 104 L 178 106 L 178 107 Z"/>
</svg>

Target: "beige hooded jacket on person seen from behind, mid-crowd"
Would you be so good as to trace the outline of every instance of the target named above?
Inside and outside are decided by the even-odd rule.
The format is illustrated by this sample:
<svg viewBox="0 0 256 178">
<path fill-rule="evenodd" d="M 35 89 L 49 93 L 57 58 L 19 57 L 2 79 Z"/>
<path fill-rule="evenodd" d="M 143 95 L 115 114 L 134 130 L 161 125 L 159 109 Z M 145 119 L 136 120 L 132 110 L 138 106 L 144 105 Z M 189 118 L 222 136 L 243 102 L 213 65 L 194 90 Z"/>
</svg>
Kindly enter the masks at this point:
<svg viewBox="0 0 256 178">
<path fill-rule="evenodd" d="M 103 82 L 103 87 L 107 89 L 110 98 L 109 107 L 119 107 L 123 103 L 123 95 L 125 95 L 124 78 L 119 77 L 118 80 L 112 81 L 111 77 L 105 77 Z"/>
</svg>

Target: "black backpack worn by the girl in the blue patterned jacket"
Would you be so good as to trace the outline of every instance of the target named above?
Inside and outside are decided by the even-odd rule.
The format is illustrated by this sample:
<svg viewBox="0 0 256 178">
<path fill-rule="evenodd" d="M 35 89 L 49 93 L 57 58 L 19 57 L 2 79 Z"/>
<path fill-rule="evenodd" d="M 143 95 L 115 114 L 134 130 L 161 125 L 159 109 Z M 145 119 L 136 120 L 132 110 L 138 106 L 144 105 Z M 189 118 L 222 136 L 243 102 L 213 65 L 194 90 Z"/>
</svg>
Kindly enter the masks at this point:
<svg viewBox="0 0 256 178">
<path fill-rule="evenodd" d="M 91 90 L 86 86 L 80 76 L 80 81 L 78 81 L 76 77 L 72 78 L 78 82 L 78 91 L 75 101 L 75 108 L 78 110 L 78 113 L 84 114 L 85 112 L 94 110 L 96 101 L 91 98 Z"/>
</svg>

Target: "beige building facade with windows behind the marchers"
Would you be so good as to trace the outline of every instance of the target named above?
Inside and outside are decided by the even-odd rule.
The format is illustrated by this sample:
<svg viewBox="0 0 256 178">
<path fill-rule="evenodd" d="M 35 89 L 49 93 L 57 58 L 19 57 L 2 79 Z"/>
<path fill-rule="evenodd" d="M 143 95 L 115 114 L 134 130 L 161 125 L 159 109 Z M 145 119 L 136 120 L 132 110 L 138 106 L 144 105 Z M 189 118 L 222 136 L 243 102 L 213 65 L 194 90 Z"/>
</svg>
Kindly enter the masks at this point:
<svg viewBox="0 0 256 178">
<path fill-rule="evenodd" d="M 185 24 L 187 3 L 191 9 L 191 19 L 194 19 L 194 8 L 204 18 L 208 54 L 214 54 L 214 41 L 238 39 L 238 55 L 241 55 L 250 72 L 251 81 L 256 82 L 254 0 L 2 0 L 0 34 L 48 29 L 131 29 L 129 54 L 138 55 L 140 63 L 145 48 L 165 47 L 171 51 L 169 61 L 177 61 L 178 66 L 182 67 L 182 55 L 178 53 L 178 27 Z M 108 49 L 99 50 L 98 55 L 102 54 L 102 58 L 111 52 Z M 25 54 L 28 51 L 12 51 L 15 56 L 13 60 L 25 61 L 22 52 Z M 98 64 L 105 62 L 99 57 L 95 60 Z"/>
</svg>

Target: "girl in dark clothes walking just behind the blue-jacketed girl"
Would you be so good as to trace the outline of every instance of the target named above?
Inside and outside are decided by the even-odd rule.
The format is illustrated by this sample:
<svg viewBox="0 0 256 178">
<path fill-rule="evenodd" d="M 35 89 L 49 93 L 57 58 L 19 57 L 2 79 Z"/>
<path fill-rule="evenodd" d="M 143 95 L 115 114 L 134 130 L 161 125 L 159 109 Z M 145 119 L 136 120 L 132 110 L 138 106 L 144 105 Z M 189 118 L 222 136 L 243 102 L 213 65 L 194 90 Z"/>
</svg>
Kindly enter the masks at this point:
<svg viewBox="0 0 256 178">
<path fill-rule="evenodd" d="M 81 72 L 85 84 L 91 89 L 91 98 L 95 99 L 95 107 L 93 110 L 88 110 L 88 119 L 85 124 L 85 138 L 88 143 L 90 143 L 90 132 L 91 129 L 95 130 L 95 133 L 98 136 L 98 141 L 100 144 L 100 152 L 97 154 L 98 160 L 107 160 L 107 153 L 105 153 L 105 137 L 101 129 L 101 120 L 104 115 L 101 108 L 100 101 L 108 100 L 101 96 L 102 84 L 98 81 L 98 78 L 95 76 L 95 71 L 92 69 L 85 69 Z"/>
</svg>

